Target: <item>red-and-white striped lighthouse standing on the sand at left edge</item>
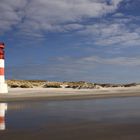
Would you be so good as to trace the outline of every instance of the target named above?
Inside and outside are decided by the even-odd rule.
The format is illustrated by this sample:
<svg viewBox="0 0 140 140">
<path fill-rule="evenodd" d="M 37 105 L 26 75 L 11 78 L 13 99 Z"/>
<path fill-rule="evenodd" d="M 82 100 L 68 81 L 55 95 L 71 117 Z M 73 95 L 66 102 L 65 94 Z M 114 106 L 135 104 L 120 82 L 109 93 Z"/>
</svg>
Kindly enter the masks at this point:
<svg viewBox="0 0 140 140">
<path fill-rule="evenodd" d="M 8 93 L 8 86 L 5 82 L 4 48 L 4 43 L 0 42 L 0 94 Z"/>
</svg>

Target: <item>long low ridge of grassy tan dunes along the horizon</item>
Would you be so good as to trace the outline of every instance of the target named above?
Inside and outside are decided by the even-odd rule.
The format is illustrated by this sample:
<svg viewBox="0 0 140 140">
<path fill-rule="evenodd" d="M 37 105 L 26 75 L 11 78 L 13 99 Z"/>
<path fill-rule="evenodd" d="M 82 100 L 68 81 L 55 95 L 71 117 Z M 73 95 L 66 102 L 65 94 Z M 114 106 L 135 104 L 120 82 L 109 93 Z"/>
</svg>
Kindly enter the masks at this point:
<svg viewBox="0 0 140 140">
<path fill-rule="evenodd" d="M 73 89 L 100 89 L 110 87 L 133 87 L 139 84 L 99 84 L 85 81 L 78 82 L 53 82 L 45 80 L 7 80 L 10 88 L 73 88 Z"/>
</svg>

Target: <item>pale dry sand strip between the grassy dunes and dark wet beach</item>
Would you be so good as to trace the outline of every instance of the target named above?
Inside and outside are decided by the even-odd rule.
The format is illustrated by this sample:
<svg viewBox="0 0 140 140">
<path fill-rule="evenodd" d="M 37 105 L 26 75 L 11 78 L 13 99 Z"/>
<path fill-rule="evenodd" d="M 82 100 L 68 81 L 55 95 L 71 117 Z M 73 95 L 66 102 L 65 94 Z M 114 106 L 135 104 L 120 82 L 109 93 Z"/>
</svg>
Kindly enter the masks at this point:
<svg viewBox="0 0 140 140">
<path fill-rule="evenodd" d="M 102 89 L 10 88 L 8 94 L 0 94 L 0 102 L 30 100 L 86 100 L 138 96 L 140 96 L 140 86 Z"/>
</svg>

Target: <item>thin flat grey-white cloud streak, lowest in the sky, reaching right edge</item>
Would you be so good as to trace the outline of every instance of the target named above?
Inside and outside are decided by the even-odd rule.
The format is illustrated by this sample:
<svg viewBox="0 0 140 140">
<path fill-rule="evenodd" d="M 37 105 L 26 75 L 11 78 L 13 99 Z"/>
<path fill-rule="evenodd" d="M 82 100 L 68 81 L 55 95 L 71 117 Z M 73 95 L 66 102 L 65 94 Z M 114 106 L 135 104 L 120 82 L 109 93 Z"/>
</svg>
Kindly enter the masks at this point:
<svg viewBox="0 0 140 140">
<path fill-rule="evenodd" d="M 59 64 L 65 64 L 72 66 L 87 66 L 87 69 L 89 67 L 95 67 L 99 64 L 104 65 L 115 65 L 115 66 L 140 66 L 140 58 L 139 57 L 100 57 L 100 56 L 83 56 L 83 57 L 58 57 L 55 59 L 55 61 Z"/>
</svg>

